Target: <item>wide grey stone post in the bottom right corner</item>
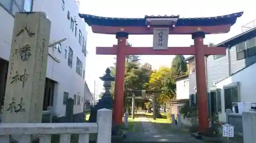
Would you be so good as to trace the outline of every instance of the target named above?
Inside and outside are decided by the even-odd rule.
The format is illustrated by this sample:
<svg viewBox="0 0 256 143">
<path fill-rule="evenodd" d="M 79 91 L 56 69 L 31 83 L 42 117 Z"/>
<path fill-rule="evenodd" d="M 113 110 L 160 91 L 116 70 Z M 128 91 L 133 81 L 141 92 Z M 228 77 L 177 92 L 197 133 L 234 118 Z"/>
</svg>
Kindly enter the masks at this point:
<svg viewBox="0 0 256 143">
<path fill-rule="evenodd" d="M 244 143 L 256 142 L 256 112 L 243 112 L 242 120 Z"/>
</svg>

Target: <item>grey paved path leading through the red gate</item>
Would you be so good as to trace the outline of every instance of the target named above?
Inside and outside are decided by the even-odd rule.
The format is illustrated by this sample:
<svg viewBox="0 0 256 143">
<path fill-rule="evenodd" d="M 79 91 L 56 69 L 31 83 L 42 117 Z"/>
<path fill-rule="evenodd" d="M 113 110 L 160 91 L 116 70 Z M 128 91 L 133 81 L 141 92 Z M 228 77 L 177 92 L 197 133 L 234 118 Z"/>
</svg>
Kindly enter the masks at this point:
<svg viewBox="0 0 256 143">
<path fill-rule="evenodd" d="M 184 143 L 203 143 L 197 140 L 184 130 L 172 130 L 170 124 L 160 125 L 158 123 L 149 122 L 147 118 L 136 118 L 140 121 L 140 132 L 127 133 L 126 138 L 122 142 L 184 142 Z M 169 126 L 170 128 L 166 127 Z M 165 128 L 170 129 L 166 130 Z"/>
</svg>

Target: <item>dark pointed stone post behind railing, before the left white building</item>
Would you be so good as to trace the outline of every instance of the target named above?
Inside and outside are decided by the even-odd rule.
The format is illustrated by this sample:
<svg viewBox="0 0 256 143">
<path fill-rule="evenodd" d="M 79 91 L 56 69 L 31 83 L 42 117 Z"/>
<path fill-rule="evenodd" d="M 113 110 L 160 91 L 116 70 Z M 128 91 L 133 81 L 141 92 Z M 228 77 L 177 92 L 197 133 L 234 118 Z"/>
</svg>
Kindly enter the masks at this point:
<svg viewBox="0 0 256 143">
<path fill-rule="evenodd" d="M 73 109 L 74 109 L 74 99 L 68 98 L 67 104 L 66 104 L 66 115 L 65 115 L 66 123 L 73 122 Z"/>
</svg>

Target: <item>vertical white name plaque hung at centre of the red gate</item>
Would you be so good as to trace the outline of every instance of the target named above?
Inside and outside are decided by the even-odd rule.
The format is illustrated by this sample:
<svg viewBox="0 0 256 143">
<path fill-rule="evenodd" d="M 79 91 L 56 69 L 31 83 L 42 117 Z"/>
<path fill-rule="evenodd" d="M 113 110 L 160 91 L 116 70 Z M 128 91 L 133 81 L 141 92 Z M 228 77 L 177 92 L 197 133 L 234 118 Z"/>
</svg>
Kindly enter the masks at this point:
<svg viewBox="0 0 256 143">
<path fill-rule="evenodd" d="M 154 28 L 153 49 L 166 50 L 168 48 L 169 28 Z"/>
</svg>

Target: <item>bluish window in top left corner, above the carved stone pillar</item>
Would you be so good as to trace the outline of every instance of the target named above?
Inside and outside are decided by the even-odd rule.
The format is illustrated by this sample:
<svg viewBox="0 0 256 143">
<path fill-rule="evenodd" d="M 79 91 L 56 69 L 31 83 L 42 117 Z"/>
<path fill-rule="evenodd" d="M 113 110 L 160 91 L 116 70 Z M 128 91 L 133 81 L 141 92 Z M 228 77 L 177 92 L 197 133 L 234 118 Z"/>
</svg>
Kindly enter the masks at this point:
<svg viewBox="0 0 256 143">
<path fill-rule="evenodd" d="M 15 15 L 16 12 L 30 12 L 32 0 L 0 0 L 0 5 Z"/>
</svg>

